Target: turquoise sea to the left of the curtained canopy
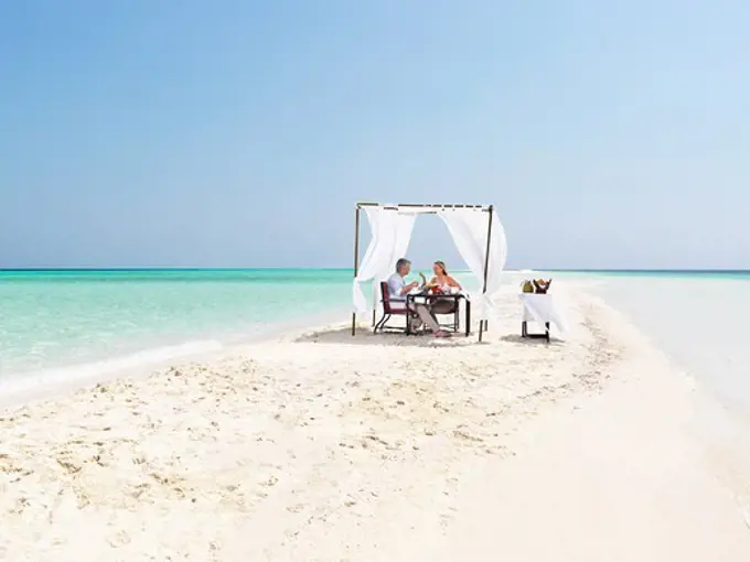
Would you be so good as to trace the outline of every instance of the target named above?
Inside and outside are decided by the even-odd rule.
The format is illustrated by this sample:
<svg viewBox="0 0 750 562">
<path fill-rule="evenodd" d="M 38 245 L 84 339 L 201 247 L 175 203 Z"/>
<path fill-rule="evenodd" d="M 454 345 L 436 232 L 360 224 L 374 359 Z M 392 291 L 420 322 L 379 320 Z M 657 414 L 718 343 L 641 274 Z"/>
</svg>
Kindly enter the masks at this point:
<svg viewBox="0 0 750 562">
<path fill-rule="evenodd" d="M 319 315 L 344 321 L 351 282 L 345 269 L 0 271 L 0 382 L 189 355 Z"/>
</svg>

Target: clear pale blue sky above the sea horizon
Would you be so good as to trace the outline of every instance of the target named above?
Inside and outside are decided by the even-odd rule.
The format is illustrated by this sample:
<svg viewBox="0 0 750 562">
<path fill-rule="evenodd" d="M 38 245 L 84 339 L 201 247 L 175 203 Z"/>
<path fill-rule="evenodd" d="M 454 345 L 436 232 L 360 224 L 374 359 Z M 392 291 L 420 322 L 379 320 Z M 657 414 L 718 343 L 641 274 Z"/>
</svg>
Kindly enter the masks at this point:
<svg viewBox="0 0 750 562">
<path fill-rule="evenodd" d="M 510 266 L 750 268 L 747 0 L 0 3 L 0 267 L 349 266 L 493 203 Z M 416 261 L 454 260 L 437 219 Z"/>
</svg>

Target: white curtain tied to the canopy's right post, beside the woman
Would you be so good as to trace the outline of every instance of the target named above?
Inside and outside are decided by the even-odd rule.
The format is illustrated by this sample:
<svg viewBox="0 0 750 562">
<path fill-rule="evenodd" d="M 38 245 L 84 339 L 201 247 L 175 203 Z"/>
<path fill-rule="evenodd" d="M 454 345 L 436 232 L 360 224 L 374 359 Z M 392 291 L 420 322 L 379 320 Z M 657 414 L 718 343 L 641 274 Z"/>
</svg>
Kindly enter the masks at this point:
<svg viewBox="0 0 750 562">
<path fill-rule="evenodd" d="M 500 289 L 503 268 L 507 258 L 505 229 L 492 214 L 492 241 L 488 267 L 486 292 L 481 294 L 484 284 L 484 259 L 488 245 L 488 212 L 480 209 L 443 209 L 438 213 L 453 237 L 456 247 L 479 282 L 480 294 L 472 298 L 472 309 L 479 311 L 479 318 L 486 318 L 494 311 L 492 295 Z"/>
</svg>

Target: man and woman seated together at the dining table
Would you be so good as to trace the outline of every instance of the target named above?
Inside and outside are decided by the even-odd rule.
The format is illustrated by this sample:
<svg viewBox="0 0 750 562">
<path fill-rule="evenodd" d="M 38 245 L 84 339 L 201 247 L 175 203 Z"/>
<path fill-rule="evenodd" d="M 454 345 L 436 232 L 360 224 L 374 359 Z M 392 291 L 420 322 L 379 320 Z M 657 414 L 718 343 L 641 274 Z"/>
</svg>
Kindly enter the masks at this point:
<svg viewBox="0 0 750 562">
<path fill-rule="evenodd" d="M 396 272 L 388 278 L 388 298 L 393 305 L 406 306 L 406 296 L 415 289 L 436 290 L 443 293 L 452 293 L 461 290 L 461 284 L 448 274 L 446 264 L 442 261 L 436 261 L 432 264 L 432 272 L 435 277 L 427 282 L 422 275 L 422 283 L 419 281 L 406 282 L 406 277 L 411 271 L 411 262 L 406 258 L 401 258 L 396 262 Z M 420 273 L 421 274 L 421 273 Z M 435 337 L 450 337 L 450 333 L 440 327 L 436 314 L 450 314 L 454 312 L 456 301 L 437 299 L 428 304 L 408 303 L 409 310 L 416 313 L 415 317 L 408 318 L 410 322 L 410 331 L 416 332 L 426 325 Z"/>
</svg>

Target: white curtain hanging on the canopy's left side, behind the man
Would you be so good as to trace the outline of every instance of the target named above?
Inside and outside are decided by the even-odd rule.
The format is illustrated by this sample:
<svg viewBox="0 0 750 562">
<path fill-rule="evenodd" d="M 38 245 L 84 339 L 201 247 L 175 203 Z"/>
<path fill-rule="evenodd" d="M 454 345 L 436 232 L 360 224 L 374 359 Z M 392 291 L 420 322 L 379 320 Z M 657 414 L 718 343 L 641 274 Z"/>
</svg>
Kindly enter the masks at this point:
<svg viewBox="0 0 750 562">
<path fill-rule="evenodd" d="M 367 300 L 360 283 L 373 280 L 373 295 L 377 307 L 379 287 L 395 271 L 396 261 L 406 255 L 411 240 L 416 215 L 394 208 L 364 207 L 369 220 L 373 239 L 362 260 L 352 294 L 354 312 L 366 312 Z"/>
</svg>

